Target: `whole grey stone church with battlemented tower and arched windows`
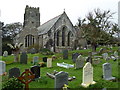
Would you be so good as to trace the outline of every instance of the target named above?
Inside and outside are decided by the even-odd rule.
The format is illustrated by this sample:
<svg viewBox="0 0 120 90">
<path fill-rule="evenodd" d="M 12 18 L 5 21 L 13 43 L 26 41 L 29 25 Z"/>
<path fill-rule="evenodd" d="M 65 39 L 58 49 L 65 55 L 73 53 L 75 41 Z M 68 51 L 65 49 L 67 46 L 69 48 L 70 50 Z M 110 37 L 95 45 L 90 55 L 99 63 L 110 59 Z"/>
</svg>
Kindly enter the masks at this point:
<svg viewBox="0 0 120 90">
<path fill-rule="evenodd" d="M 54 52 L 73 50 L 76 29 L 64 11 L 40 25 L 39 8 L 26 6 L 23 30 L 15 37 L 15 43 L 23 43 L 23 49 L 31 45 L 48 48 Z"/>
</svg>

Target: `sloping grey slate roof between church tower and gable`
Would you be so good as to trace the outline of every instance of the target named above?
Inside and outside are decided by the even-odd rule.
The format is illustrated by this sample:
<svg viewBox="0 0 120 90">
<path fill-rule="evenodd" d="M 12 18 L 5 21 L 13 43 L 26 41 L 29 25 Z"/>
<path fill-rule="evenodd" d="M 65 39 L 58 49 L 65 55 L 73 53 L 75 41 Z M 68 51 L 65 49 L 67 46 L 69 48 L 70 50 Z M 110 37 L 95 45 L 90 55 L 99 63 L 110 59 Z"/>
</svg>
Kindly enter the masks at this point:
<svg viewBox="0 0 120 90">
<path fill-rule="evenodd" d="M 47 33 L 52 26 L 57 22 L 57 20 L 61 17 L 62 14 L 60 14 L 59 16 L 54 17 L 53 19 L 50 19 L 49 21 L 45 22 L 44 24 L 42 24 L 40 27 L 38 27 L 38 35 L 42 35 Z"/>
</svg>

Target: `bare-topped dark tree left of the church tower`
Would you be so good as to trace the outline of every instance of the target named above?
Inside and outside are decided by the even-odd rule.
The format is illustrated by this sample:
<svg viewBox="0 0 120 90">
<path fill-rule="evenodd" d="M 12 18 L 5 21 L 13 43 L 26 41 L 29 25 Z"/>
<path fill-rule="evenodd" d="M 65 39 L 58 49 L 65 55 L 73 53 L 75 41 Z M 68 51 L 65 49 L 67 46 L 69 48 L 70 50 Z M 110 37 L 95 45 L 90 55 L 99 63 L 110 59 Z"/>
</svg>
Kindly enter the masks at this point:
<svg viewBox="0 0 120 90">
<path fill-rule="evenodd" d="M 12 53 L 10 47 L 7 44 L 13 44 L 13 39 L 15 35 L 20 33 L 22 30 L 22 24 L 20 22 L 3 25 L 2 29 L 2 52 L 8 51 L 9 54 Z"/>
</svg>

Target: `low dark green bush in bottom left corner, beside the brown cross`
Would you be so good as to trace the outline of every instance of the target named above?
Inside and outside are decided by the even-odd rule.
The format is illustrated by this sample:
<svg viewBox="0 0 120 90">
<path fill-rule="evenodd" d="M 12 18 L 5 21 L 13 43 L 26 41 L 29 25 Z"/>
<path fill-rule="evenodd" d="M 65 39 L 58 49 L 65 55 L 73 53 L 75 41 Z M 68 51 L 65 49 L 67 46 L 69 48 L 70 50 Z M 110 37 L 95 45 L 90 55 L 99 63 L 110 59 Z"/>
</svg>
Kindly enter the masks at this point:
<svg viewBox="0 0 120 90">
<path fill-rule="evenodd" d="M 23 89 L 23 84 L 15 77 L 10 78 L 3 84 L 2 90 Z"/>
</svg>

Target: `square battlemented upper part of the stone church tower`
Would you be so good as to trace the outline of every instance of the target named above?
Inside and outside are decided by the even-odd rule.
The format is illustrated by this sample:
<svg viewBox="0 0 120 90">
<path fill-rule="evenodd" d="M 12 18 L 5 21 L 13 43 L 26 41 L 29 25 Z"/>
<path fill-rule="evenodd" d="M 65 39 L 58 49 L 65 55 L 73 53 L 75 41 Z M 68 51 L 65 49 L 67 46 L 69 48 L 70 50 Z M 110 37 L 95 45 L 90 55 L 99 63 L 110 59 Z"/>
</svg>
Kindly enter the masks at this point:
<svg viewBox="0 0 120 90">
<path fill-rule="evenodd" d="M 40 26 L 40 13 L 39 7 L 29 7 L 25 8 L 24 23 L 23 27 L 37 28 Z"/>
</svg>

